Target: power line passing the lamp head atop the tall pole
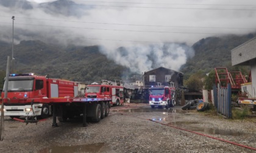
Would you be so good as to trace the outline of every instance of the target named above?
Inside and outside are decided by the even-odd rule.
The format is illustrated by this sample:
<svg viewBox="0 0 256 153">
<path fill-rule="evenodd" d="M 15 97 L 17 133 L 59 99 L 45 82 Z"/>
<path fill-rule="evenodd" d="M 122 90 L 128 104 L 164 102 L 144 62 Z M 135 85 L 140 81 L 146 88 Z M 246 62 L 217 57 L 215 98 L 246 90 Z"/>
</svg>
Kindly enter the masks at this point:
<svg viewBox="0 0 256 153">
<path fill-rule="evenodd" d="M 1 16 L 4 18 L 10 18 L 10 16 Z M 87 21 L 68 21 L 59 19 L 41 19 L 41 18 L 26 18 L 17 16 L 19 19 L 37 19 L 45 21 L 58 21 L 58 22 L 78 22 L 78 23 L 89 23 L 89 24 L 109 24 L 109 25 L 129 25 L 129 26 L 144 26 L 144 27 L 177 27 L 177 28 L 201 28 L 201 29 L 244 29 L 244 30 L 254 30 L 253 28 L 244 27 L 195 27 L 195 26 L 174 26 L 174 25 L 146 25 L 146 24 L 119 24 L 119 23 L 108 23 L 108 22 L 87 22 Z"/>
</svg>

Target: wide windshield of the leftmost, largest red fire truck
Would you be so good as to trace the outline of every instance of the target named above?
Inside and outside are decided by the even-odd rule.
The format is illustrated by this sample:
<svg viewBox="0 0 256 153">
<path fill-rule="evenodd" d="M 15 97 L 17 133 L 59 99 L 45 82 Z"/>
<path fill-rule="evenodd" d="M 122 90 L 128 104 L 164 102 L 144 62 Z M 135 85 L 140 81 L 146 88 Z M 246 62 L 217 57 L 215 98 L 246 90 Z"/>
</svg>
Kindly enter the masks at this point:
<svg viewBox="0 0 256 153">
<path fill-rule="evenodd" d="M 9 80 L 8 91 L 9 92 L 26 92 L 33 90 L 34 80 Z"/>
</svg>

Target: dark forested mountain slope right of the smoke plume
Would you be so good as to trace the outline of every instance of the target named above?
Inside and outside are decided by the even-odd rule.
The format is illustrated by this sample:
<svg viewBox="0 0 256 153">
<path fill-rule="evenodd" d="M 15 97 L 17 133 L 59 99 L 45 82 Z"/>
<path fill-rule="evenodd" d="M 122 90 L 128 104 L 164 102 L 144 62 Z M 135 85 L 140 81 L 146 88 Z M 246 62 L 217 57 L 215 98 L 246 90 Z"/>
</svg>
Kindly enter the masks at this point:
<svg viewBox="0 0 256 153">
<path fill-rule="evenodd" d="M 187 60 L 187 63 L 181 67 L 180 72 L 184 73 L 186 79 L 193 73 L 198 71 L 208 73 L 215 67 L 233 69 L 231 50 L 254 38 L 254 36 L 256 36 L 256 33 L 201 39 L 192 46 L 195 51 L 194 57 Z"/>
</svg>

